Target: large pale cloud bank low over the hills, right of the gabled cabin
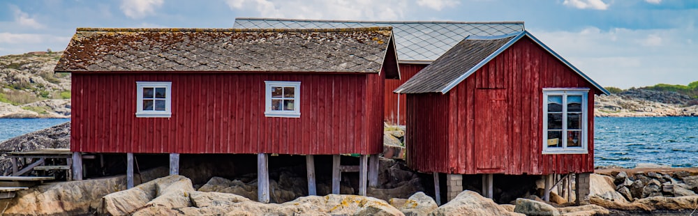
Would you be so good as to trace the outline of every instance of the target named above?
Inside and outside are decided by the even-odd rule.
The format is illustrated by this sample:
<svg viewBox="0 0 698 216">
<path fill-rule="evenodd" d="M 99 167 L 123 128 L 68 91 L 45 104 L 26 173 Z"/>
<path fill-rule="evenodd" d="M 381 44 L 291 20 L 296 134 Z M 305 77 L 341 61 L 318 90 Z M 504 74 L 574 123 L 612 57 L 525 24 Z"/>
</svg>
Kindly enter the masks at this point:
<svg viewBox="0 0 698 216">
<path fill-rule="evenodd" d="M 602 86 L 630 88 L 698 80 L 698 29 L 529 29 Z"/>
</svg>

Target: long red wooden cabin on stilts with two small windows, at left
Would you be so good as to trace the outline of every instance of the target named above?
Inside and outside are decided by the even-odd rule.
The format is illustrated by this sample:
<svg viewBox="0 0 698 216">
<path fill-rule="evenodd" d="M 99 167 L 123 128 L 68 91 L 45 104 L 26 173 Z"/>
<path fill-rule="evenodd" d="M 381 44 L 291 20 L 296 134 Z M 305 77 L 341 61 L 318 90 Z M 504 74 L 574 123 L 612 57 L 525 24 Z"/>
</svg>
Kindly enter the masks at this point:
<svg viewBox="0 0 698 216">
<path fill-rule="evenodd" d="M 263 184 L 269 153 L 309 155 L 309 173 L 335 155 L 333 175 L 357 153 L 365 182 L 394 47 L 390 27 L 77 29 L 55 71 L 72 72 L 75 154 L 169 153 L 171 173 L 180 153 L 258 154 Z"/>
</svg>

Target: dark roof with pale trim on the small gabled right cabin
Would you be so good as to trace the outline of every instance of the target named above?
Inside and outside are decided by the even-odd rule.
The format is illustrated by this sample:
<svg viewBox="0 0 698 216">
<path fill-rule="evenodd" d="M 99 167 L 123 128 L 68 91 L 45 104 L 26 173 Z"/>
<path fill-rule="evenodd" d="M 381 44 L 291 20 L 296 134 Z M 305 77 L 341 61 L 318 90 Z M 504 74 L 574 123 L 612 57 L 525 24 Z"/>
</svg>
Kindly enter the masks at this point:
<svg viewBox="0 0 698 216">
<path fill-rule="evenodd" d="M 431 65 L 417 72 L 407 82 L 399 86 L 395 93 L 447 93 L 483 65 L 508 49 L 519 39 L 528 37 L 543 47 L 547 52 L 562 61 L 572 71 L 586 79 L 601 92 L 609 95 L 609 91 L 584 75 L 574 65 L 544 45 L 528 31 L 502 36 L 468 36 L 460 43 L 449 49 L 443 56 L 433 61 Z"/>
</svg>

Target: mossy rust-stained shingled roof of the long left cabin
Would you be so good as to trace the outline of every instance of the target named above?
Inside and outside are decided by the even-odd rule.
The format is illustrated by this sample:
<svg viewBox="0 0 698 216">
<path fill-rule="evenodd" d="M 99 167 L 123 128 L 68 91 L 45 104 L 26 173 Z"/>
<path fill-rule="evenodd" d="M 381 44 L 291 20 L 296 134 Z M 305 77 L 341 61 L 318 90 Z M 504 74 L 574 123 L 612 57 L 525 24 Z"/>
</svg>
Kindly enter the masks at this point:
<svg viewBox="0 0 698 216">
<path fill-rule="evenodd" d="M 380 72 L 398 77 L 390 27 L 77 29 L 57 72 Z M 392 54 L 392 56 L 389 56 Z M 392 58 L 392 59 L 391 59 Z M 387 59 L 387 60 L 386 60 Z"/>
</svg>

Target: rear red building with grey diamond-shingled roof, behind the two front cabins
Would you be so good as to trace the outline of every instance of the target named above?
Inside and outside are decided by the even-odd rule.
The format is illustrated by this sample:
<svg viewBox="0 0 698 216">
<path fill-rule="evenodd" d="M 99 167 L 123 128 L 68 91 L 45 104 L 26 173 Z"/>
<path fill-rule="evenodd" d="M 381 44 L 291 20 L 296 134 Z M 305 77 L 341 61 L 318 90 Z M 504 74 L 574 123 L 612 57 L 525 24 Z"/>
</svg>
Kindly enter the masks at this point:
<svg viewBox="0 0 698 216">
<path fill-rule="evenodd" d="M 298 29 L 392 26 L 399 56 L 400 76 L 386 77 L 384 121 L 406 124 L 406 96 L 393 93 L 466 36 L 496 36 L 523 31 L 523 22 L 356 21 L 235 18 L 234 28 Z"/>
</svg>

